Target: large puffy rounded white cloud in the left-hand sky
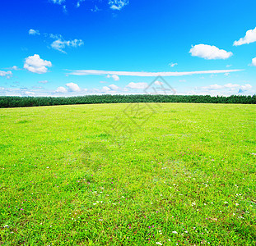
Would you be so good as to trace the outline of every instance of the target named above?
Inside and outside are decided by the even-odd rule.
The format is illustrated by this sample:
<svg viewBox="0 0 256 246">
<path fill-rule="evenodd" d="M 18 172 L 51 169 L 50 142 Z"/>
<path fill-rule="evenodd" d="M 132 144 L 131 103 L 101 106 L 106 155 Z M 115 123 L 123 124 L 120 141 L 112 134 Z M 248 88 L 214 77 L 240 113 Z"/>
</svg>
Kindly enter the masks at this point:
<svg viewBox="0 0 256 246">
<path fill-rule="evenodd" d="M 36 74 L 44 74 L 47 72 L 47 66 L 51 67 L 52 63 L 40 58 L 39 55 L 35 54 L 31 57 L 26 57 L 24 68 L 27 71 Z"/>
</svg>

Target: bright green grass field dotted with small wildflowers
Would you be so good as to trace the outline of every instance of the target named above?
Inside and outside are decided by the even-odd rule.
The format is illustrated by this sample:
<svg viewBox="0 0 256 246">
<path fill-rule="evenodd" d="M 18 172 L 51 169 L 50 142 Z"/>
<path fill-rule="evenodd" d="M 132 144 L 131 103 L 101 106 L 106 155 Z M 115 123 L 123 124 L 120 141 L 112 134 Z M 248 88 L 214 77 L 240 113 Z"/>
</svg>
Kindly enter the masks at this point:
<svg viewBox="0 0 256 246">
<path fill-rule="evenodd" d="M 1 245 L 255 245 L 255 105 L 136 107 L 0 109 Z"/>
</svg>

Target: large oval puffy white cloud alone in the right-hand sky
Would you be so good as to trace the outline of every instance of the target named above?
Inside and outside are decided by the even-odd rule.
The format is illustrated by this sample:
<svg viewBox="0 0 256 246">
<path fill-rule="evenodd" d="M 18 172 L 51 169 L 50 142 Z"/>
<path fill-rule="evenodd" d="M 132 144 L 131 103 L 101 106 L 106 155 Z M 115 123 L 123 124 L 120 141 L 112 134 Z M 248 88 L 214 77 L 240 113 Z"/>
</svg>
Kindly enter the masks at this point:
<svg viewBox="0 0 256 246">
<path fill-rule="evenodd" d="M 224 49 L 202 43 L 193 46 L 189 53 L 191 53 L 192 57 L 202 57 L 207 60 L 227 59 L 233 55 L 232 52 L 226 52 Z"/>
</svg>

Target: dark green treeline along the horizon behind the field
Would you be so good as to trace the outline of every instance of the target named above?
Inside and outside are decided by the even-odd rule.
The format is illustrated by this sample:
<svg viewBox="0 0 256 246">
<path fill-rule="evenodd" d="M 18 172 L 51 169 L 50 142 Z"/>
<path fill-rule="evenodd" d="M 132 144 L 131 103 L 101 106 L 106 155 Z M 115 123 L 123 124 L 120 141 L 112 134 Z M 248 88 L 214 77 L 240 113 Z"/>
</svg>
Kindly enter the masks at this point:
<svg viewBox="0 0 256 246">
<path fill-rule="evenodd" d="M 254 96 L 181 96 L 181 95 L 88 95 L 70 98 L 0 97 L 0 107 L 37 107 L 95 103 L 241 103 L 256 104 Z"/>
</svg>

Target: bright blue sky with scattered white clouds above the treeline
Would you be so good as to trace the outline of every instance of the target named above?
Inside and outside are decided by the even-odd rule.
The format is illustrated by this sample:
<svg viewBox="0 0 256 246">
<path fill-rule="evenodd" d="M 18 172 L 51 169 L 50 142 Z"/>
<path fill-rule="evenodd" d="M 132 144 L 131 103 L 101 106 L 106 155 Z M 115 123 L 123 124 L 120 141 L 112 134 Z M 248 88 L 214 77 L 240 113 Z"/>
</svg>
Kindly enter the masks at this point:
<svg viewBox="0 0 256 246">
<path fill-rule="evenodd" d="M 0 96 L 254 95 L 255 9 L 255 0 L 4 0 Z"/>
</svg>

